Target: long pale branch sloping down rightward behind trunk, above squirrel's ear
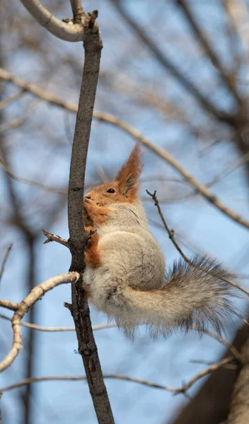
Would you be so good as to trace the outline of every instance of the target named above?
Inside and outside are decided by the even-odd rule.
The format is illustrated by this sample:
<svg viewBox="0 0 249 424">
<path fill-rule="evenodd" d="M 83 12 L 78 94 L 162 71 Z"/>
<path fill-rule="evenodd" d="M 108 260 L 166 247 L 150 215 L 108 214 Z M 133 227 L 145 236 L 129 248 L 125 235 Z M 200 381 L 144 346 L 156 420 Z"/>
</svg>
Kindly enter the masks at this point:
<svg viewBox="0 0 249 424">
<path fill-rule="evenodd" d="M 34 84 L 25 83 L 21 78 L 16 78 L 15 76 L 12 76 L 10 72 L 6 71 L 5 69 L 0 68 L 0 78 L 11 81 L 12 83 L 16 84 L 17 86 L 20 86 L 22 88 L 25 88 L 26 90 L 30 91 L 30 93 L 33 93 L 34 95 L 37 95 L 38 97 L 42 98 L 43 100 L 46 100 L 47 102 L 50 102 L 53 105 L 57 105 L 59 107 L 62 107 L 66 110 L 70 110 L 71 112 L 77 111 L 77 106 L 72 102 L 64 102 L 63 100 L 57 98 L 54 95 L 50 95 L 50 93 L 46 93 L 44 90 L 41 90 L 40 88 L 37 88 Z M 224 213 L 228 218 L 231 218 L 232 220 L 235 220 L 237 223 L 243 225 L 245 228 L 249 228 L 249 221 L 245 220 L 241 216 L 238 215 L 238 213 L 234 212 L 231 208 L 228 208 L 227 206 L 224 206 L 224 204 L 219 201 L 212 192 L 209 192 L 209 189 L 199 182 L 195 177 L 193 177 L 190 172 L 185 170 L 185 167 L 180 165 L 175 158 L 168 153 L 163 148 L 160 148 L 149 139 L 146 139 L 137 129 L 132 127 L 131 125 L 127 124 L 126 122 L 122 121 L 121 119 L 118 119 L 112 114 L 105 113 L 105 112 L 99 112 L 97 110 L 93 111 L 93 117 L 95 119 L 98 119 L 100 122 L 106 122 L 108 124 L 118 126 L 120 129 L 124 130 L 132 136 L 137 141 L 140 141 L 141 144 L 143 144 L 146 148 L 149 148 L 150 151 L 156 153 L 159 158 L 166 160 L 166 162 L 172 166 L 175 170 L 177 170 L 180 175 L 183 176 L 185 181 L 190 184 L 192 187 L 201 194 L 204 199 L 209 201 L 212 205 L 214 205 L 216 208 L 219 209 L 222 213 Z"/>
</svg>

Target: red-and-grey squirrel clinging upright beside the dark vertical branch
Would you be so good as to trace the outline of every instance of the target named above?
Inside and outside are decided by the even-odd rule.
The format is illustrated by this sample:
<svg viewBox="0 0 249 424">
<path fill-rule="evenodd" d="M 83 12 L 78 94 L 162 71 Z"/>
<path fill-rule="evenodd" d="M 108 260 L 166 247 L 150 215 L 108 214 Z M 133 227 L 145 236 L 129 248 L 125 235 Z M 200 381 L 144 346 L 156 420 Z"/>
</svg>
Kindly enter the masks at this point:
<svg viewBox="0 0 249 424">
<path fill-rule="evenodd" d="M 231 285 L 224 281 L 231 274 L 198 254 L 192 264 L 180 259 L 166 272 L 139 200 L 142 169 L 137 143 L 115 181 L 94 187 L 84 197 L 86 295 L 130 337 L 139 324 L 147 324 L 153 336 L 193 325 L 201 330 L 207 324 L 220 333 L 222 317 L 234 314 Z"/>
</svg>

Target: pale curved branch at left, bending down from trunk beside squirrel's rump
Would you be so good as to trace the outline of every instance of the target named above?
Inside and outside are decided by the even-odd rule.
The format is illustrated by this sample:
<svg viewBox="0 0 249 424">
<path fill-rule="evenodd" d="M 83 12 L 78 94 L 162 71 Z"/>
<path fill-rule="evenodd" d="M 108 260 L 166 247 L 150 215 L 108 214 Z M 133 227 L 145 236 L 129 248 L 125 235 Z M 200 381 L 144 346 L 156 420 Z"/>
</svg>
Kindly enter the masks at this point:
<svg viewBox="0 0 249 424">
<path fill-rule="evenodd" d="M 11 346 L 11 350 L 6 355 L 6 358 L 0 363 L 0 372 L 6 370 L 13 361 L 16 359 L 19 351 L 22 346 L 22 336 L 20 329 L 20 322 L 24 315 L 28 312 L 31 306 L 37 302 L 47 291 L 52 290 L 52 288 L 57 287 L 57 285 L 64 283 L 76 283 L 79 280 L 79 273 L 71 272 L 68 274 L 62 274 L 59 276 L 54 276 L 49 280 L 37 285 L 33 290 L 30 291 L 28 296 L 23 299 L 22 302 L 17 304 L 16 312 L 13 314 L 13 318 L 11 319 L 12 328 L 13 328 L 13 343 Z M 0 301 L 1 305 L 1 301 Z"/>
</svg>

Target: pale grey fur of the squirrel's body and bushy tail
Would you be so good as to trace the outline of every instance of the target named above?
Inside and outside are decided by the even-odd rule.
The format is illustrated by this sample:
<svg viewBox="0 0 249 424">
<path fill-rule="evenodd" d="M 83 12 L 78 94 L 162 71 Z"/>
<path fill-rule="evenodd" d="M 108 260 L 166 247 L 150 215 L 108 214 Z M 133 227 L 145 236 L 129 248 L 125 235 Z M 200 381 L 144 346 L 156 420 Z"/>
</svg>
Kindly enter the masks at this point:
<svg viewBox="0 0 249 424">
<path fill-rule="evenodd" d="M 84 272 L 96 309 L 113 317 L 128 336 L 139 324 L 148 325 L 153 336 L 192 324 L 200 329 L 210 324 L 219 333 L 224 316 L 234 314 L 231 285 L 222 280 L 231 277 L 228 271 L 197 255 L 194 266 L 175 262 L 165 278 L 163 252 L 149 232 L 143 206 L 112 209 L 108 225 L 96 228 L 101 265 Z"/>
</svg>

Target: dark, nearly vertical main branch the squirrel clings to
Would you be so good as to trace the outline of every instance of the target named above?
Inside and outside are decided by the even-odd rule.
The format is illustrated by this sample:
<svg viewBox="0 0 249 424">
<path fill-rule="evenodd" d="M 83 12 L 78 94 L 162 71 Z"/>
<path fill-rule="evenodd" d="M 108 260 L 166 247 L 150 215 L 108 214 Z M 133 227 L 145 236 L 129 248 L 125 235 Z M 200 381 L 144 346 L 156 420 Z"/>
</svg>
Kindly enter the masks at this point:
<svg viewBox="0 0 249 424">
<path fill-rule="evenodd" d="M 79 6 L 79 1 L 76 1 Z M 75 3 L 74 3 L 75 6 Z M 94 15 L 84 15 L 88 20 L 88 28 L 94 24 Z M 95 413 L 100 424 L 114 424 L 108 393 L 105 388 L 103 374 L 95 345 L 87 298 L 83 291 L 82 273 L 85 267 L 84 250 L 86 235 L 83 227 L 83 189 L 86 170 L 86 156 L 93 117 L 93 105 L 98 82 L 100 53 L 102 42 L 99 33 L 89 31 L 83 42 L 85 49 L 85 63 L 79 98 L 79 110 L 76 117 L 74 143 L 71 154 L 69 177 L 69 235 L 71 248 L 70 271 L 81 274 L 79 281 L 71 286 L 72 305 L 71 314 L 74 318 L 76 335 L 79 343 L 79 353 L 86 370 L 88 386 L 93 399 Z"/>
</svg>

